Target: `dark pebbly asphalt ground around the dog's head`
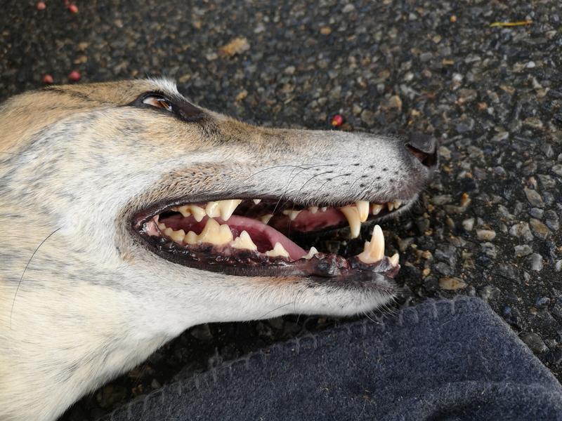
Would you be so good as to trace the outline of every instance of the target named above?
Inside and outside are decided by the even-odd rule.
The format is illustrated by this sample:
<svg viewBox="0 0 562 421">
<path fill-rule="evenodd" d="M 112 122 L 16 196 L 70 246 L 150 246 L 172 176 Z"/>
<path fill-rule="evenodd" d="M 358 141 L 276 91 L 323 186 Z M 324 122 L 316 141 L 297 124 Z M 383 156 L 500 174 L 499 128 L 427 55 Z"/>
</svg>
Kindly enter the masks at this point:
<svg viewBox="0 0 562 421">
<path fill-rule="evenodd" d="M 339 130 L 436 136 L 439 173 L 410 215 L 383 225 L 387 254 L 399 250 L 403 267 L 396 305 L 478 295 L 562 378 L 557 1 L 90 0 L 78 13 L 45 3 L 39 11 L 34 1 L 4 1 L 0 99 L 41 86 L 45 74 L 55 83 L 73 70 L 78 83 L 166 74 L 195 102 L 244 121 L 329 129 L 341 114 Z M 532 23 L 490 27 L 524 20 Z M 333 323 L 197 326 L 63 420 L 92 420 L 174 378 Z"/>
</svg>

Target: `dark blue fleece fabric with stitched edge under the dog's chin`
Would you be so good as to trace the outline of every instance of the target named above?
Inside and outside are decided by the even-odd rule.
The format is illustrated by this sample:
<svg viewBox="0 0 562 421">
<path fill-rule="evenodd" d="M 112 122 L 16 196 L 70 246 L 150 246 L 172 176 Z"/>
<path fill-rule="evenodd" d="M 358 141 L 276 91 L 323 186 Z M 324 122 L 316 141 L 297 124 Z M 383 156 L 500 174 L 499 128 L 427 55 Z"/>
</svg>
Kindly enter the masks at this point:
<svg viewBox="0 0 562 421">
<path fill-rule="evenodd" d="M 163 387 L 105 420 L 562 420 L 562 387 L 485 302 L 424 302 Z"/>
</svg>

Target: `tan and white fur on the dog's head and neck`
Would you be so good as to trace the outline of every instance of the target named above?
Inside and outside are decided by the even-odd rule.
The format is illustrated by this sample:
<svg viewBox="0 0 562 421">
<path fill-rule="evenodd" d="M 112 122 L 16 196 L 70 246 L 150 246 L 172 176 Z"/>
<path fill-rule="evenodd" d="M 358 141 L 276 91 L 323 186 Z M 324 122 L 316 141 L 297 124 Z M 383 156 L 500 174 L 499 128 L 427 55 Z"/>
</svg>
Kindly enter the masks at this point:
<svg viewBox="0 0 562 421">
<path fill-rule="evenodd" d="M 357 314 L 396 292 L 191 269 L 130 227 L 152 203 L 204 194 L 411 203 L 426 169 L 403 140 L 257 128 L 207 109 L 188 123 L 131 105 L 145 92 L 186 101 L 150 79 L 0 105 L 0 420 L 55 420 L 198 323 Z"/>
</svg>

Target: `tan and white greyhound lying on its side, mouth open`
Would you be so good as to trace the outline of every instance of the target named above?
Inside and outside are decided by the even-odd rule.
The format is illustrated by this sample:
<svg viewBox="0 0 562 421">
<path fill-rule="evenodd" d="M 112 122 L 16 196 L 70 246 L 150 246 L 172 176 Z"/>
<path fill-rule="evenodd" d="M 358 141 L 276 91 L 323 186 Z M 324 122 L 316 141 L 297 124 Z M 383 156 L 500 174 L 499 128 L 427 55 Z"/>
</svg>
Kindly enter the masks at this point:
<svg viewBox="0 0 562 421">
<path fill-rule="evenodd" d="M 405 212 L 436 166 L 424 135 L 259 128 L 167 79 L 8 99 L 0 419 L 55 420 L 198 323 L 385 305 L 379 225 L 355 256 L 299 239 Z"/>
</svg>

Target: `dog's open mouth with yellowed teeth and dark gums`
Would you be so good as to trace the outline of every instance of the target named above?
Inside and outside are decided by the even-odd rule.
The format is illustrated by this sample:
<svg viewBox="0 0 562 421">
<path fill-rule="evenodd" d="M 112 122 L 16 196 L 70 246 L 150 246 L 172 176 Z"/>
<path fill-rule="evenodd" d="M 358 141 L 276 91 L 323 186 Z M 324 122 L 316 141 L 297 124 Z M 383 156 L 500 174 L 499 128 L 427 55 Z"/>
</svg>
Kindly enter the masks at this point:
<svg viewBox="0 0 562 421">
<path fill-rule="evenodd" d="M 171 262 L 243 276 L 308 276 L 357 281 L 393 278 L 398 254 L 384 255 L 384 235 L 374 227 L 361 253 L 342 256 L 302 248 L 299 239 L 346 225 L 350 237 L 363 222 L 396 213 L 413 202 L 355 201 L 344 206 L 299 206 L 279 199 L 227 199 L 168 203 L 133 218 L 133 229 Z"/>
</svg>

